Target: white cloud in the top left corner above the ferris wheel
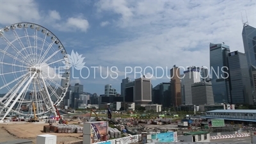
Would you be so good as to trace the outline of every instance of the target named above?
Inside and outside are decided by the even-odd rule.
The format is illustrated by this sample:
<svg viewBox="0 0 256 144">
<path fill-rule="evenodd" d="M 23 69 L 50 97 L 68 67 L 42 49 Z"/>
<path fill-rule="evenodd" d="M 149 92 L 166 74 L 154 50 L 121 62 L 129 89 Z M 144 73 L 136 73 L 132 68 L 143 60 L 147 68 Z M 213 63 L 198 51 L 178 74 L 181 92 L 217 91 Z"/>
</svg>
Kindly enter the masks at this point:
<svg viewBox="0 0 256 144">
<path fill-rule="evenodd" d="M 1 1 L 0 2 L 0 24 L 10 25 L 17 22 L 35 22 L 42 26 L 52 26 L 60 31 L 83 31 L 89 28 L 89 22 L 79 17 L 61 18 L 56 10 L 48 13 L 40 10 L 40 6 L 33 0 L 26 1 Z M 63 22 L 65 21 L 65 22 Z"/>
</svg>

